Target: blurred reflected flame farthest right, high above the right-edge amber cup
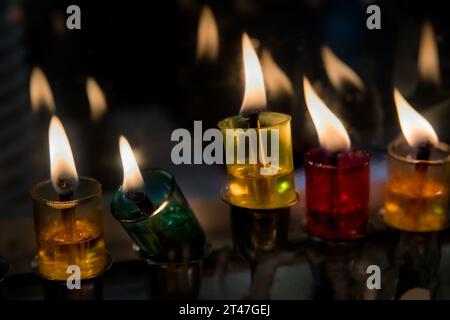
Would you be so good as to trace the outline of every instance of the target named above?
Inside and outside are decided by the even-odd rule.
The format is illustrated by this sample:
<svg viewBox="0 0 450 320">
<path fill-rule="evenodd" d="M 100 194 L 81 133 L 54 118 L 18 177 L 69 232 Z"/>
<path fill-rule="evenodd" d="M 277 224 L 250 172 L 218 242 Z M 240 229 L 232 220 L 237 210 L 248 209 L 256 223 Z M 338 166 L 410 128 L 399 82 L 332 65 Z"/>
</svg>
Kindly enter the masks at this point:
<svg viewBox="0 0 450 320">
<path fill-rule="evenodd" d="M 425 22 L 422 25 L 418 70 L 422 80 L 433 83 L 436 86 L 441 84 L 439 51 L 433 25 L 429 22 Z"/>
</svg>

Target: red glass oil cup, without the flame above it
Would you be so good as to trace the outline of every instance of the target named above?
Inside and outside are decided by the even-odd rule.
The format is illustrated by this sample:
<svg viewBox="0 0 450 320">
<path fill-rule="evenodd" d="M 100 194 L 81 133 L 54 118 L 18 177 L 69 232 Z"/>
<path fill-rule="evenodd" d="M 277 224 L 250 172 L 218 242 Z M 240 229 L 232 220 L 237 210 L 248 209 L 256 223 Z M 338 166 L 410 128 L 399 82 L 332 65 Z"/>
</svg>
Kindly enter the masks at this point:
<svg viewBox="0 0 450 320">
<path fill-rule="evenodd" d="M 311 237 L 352 240 L 367 232 L 369 155 L 361 150 L 332 161 L 322 149 L 305 154 L 306 230 Z"/>
</svg>

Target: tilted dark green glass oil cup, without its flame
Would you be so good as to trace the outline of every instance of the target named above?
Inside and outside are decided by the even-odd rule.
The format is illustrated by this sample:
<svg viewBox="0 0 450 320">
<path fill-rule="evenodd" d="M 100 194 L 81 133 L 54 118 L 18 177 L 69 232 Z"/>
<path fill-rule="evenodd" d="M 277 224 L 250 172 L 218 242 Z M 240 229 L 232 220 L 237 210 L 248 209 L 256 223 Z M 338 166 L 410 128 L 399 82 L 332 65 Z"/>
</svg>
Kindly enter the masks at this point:
<svg viewBox="0 0 450 320">
<path fill-rule="evenodd" d="M 157 262 L 183 262 L 203 256 L 205 234 L 173 175 L 152 169 L 142 173 L 143 192 L 157 207 L 142 215 L 122 188 L 116 190 L 111 212 L 122 224 L 140 255 Z"/>
</svg>

